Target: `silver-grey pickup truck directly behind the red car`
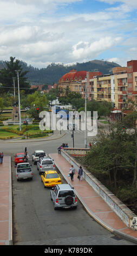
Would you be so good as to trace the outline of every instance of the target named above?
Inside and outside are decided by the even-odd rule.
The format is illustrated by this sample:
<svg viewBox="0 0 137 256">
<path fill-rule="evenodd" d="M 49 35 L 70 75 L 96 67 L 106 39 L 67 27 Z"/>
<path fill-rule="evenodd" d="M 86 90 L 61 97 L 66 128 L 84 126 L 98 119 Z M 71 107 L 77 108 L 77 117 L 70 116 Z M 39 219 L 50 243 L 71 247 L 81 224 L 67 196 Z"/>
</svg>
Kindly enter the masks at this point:
<svg viewBox="0 0 137 256">
<path fill-rule="evenodd" d="M 29 163 L 18 163 L 16 166 L 17 181 L 22 179 L 33 179 L 33 172 Z"/>
</svg>

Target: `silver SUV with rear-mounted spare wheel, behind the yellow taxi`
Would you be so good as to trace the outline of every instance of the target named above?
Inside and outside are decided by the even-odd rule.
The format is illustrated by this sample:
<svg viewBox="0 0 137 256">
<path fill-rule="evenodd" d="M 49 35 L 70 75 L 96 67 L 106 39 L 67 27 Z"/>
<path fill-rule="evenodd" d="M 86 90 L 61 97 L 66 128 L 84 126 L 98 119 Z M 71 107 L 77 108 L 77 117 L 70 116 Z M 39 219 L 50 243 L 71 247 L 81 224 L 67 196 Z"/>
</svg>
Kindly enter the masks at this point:
<svg viewBox="0 0 137 256">
<path fill-rule="evenodd" d="M 54 210 L 59 208 L 77 208 L 77 198 L 74 187 L 70 184 L 55 185 L 50 190 L 50 197 L 54 203 Z"/>
</svg>

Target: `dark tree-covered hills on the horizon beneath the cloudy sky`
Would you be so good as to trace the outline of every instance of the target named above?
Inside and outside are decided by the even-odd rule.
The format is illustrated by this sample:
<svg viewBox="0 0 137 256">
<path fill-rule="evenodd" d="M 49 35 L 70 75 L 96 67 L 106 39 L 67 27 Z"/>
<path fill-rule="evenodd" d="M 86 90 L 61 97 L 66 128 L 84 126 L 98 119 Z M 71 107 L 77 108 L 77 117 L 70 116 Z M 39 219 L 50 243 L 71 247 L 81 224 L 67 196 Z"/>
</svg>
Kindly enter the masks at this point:
<svg viewBox="0 0 137 256">
<path fill-rule="evenodd" d="M 28 70 L 28 82 L 32 84 L 53 84 L 57 83 L 58 80 L 71 69 L 76 69 L 77 71 L 100 71 L 102 74 L 112 74 L 112 69 L 115 66 L 120 66 L 113 62 L 107 62 L 103 60 L 92 60 L 90 62 L 76 63 L 71 66 L 66 66 L 63 64 L 51 63 L 47 68 L 34 68 L 25 62 L 22 62 L 23 70 Z M 5 62 L 0 61 L 0 69 L 5 67 Z"/>
</svg>

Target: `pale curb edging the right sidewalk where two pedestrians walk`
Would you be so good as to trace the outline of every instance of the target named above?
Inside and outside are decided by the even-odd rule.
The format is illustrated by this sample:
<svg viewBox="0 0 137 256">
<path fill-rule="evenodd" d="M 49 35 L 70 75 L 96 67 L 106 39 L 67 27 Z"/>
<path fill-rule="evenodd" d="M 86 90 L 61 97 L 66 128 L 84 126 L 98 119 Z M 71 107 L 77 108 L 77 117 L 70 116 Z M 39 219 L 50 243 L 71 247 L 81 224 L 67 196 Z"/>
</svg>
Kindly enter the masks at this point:
<svg viewBox="0 0 137 256">
<path fill-rule="evenodd" d="M 50 154 L 49 154 L 50 156 Z M 70 184 L 70 181 L 66 178 L 66 175 L 63 174 L 62 169 L 58 166 L 58 164 L 56 164 L 56 161 L 54 161 L 56 167 L 58 168 L 58 170 L 60 170 L 61 174 L 63 175 L 64 179 L 68 182 L 68 184 Z M 86 211 L 88 212 L 88 214 L 94 218 L 94 220 L 96 222 L 98 222 L 100 225 L 102 225 L 104 228 L 106 228 L 108 231 L 110 231 L 111 233 L 113 233 L 114 235 L 120 236 L 125 240 L 134 242 L 137 244 L 137 239 L 133 236 L 127 235 L 127 234 L 123 234 L 121 231 L 115 230 L 112 227 L 110 227 L 109 225 L 107 225 L 105 222 L 101 221 L 99 217 L 96 217 L 93 212 L 88 208 L 88 206 L 83 202 L 82 198 L 80 197 L 80 195 L 75 191 L 77 197 L 79 198 L 80 202 L 82 203 L 82 205 L 84 206 L 84 208 L 86 209 Z"/>
</svg>

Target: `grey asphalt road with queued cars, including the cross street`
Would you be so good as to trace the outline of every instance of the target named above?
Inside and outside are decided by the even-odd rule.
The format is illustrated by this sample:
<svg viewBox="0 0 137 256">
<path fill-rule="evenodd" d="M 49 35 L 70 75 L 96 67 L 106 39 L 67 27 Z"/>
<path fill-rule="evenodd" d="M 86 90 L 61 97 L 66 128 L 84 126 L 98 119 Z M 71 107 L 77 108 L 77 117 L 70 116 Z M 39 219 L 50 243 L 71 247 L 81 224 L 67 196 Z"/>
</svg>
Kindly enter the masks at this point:
<svg viewBox="0 0 137 256">
<path fill-rule="evenodd" d="M 55 153 L 58 145 L 73 142 L 67 133 L 62 139 L 48 142 L 0 144 L 5 155 L 28 148 L 44 149 Z M 76 147 L 83 147 L 84 136 L 75 132 Z M 50 200 L 50 190 L 43 187 L 36 166 L 34 180 L 16 181 L 14 162 L 12 162 L 13 191 L 13 231 L 14 245 L 134 245 L 134 243 L 114 236 L 94 221 L 79 202 L 77 210 L 63 209 L 55 211 Z"/>
</svg>

